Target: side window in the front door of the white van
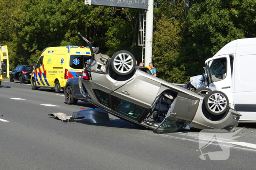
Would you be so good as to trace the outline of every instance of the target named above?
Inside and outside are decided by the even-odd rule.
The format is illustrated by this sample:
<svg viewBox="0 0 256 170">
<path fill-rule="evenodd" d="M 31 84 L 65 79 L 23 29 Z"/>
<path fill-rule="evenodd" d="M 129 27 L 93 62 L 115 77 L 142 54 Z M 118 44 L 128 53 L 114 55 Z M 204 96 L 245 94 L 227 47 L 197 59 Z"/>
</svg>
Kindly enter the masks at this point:
<svg viewBox="0 0 256 170">
<path fill-rule="evenodd" d="M 211 60 L 210 62 L 208 64 L 210 65 L 212 82 L 225 79 L 227 74 L 227 59 L 219 58 Z"/>
</svg>

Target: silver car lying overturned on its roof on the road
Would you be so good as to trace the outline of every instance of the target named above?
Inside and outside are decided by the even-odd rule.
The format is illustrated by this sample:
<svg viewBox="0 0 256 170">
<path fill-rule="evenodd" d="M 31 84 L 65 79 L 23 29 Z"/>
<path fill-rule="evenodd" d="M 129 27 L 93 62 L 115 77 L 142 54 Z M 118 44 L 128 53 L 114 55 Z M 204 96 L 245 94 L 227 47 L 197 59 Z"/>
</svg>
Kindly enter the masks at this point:
<svg viewBox="0 0 256 170">
<path fill-rule="evenodd" d="M 80 91 L 89 102 L 120 119 L 156 133 L 190 127 L 230 131 L 238 125 L 241 114 L 229 108 L 223 92 L 212 91 L 203 98 L 165 82 L 136 69 L 128 51 L 118 51 L 112 58 L 92 48 L 91 53 L 79 76 Z"/>
</svg>

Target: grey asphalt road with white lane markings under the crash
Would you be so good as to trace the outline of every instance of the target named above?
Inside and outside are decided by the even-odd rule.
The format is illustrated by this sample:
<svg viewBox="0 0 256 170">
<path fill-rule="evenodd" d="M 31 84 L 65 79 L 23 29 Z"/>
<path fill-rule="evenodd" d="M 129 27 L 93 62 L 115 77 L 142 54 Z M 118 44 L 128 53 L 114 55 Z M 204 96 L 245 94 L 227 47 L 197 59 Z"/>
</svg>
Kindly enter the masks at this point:
<svg viewBox="0 0 256 170">
<path fill-rule="evenodd" d="M 83 120 L 61 122 L 48 114 L 71 115 L 93 105 L 80 101 L 77 105 L 65 104 L 63 93 L 32 90 L 31 84 L 4 79 L 0 101 L 0 170 L 205 170 L 256 166 L 254 124 L 236 128 L 238 145 L 213 142 L 207 150 L 200 147 L 203 137 L 197 129 L 156 134 L 112 115 L 109 125 Z M 215 152 L 218 160 L 207 156 L 202 160 L 199 147 L 203 153 Z"/>
</svg>

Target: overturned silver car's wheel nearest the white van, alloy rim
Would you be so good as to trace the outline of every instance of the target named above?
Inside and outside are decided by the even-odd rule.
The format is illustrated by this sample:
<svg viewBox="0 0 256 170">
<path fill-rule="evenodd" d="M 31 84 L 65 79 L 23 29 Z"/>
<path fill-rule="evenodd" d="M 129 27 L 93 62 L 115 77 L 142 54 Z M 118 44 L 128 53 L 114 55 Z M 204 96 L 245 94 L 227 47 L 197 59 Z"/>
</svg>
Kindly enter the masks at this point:
<svg viewBox="0 0 256 170">
<path fill-rule="evenodd" d="M 213 115 L 221 115 L 229 108 L 229 99 L 221 91 L 211 91 L 204 97 L 206 110 Z"/>
</svg>

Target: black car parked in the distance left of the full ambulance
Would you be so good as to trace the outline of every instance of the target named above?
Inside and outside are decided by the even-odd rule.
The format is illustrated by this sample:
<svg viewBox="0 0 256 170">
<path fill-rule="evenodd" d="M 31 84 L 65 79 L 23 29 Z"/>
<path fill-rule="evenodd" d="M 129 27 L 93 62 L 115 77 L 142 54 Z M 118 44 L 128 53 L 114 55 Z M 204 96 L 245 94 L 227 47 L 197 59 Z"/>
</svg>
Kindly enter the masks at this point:
<svg viewBox="0 0 256 170">
<path fill-rule="evenodd" d="M 33 71 L 33 66 L 19 65 L 10 73 L 10 82 L 14 80 L 19 80 L 19 83 L 30 82 L 31 72 Z"/>
</svg>

